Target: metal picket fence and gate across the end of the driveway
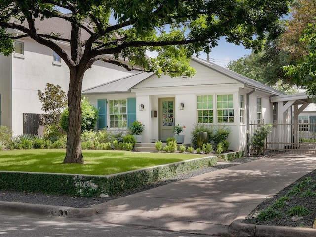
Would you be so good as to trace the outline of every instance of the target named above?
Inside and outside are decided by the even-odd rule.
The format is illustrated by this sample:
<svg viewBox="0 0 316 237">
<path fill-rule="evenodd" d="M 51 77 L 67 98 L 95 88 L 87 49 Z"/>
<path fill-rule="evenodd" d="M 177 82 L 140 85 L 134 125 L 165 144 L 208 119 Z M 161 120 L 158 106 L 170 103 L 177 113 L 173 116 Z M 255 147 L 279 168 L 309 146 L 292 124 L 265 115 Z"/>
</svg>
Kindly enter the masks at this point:
<svg viewBox="0 0 316 237">
<path fill-rule="evenodd" d="M 291 154 L 316 153 L 316 121 L 300 123 L 298 121 L 250 122 L 249 152 L 253 154 L 252 140 L 256 129 L 263 124 L 271 124 L 272 132 L 266 139 L 265 153 L 288 152 Z"/>
</svg>

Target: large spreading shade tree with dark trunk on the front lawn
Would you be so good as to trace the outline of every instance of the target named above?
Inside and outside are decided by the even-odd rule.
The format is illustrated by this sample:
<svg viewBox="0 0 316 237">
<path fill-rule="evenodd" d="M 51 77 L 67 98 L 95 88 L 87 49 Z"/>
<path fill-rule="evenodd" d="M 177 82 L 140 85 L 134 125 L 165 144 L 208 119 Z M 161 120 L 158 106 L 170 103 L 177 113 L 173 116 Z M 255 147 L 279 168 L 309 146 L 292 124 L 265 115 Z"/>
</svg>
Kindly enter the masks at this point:
<svg viewBox="0 0 316 237">
<path fill-rule="evenodd" d="M 290 0 L 28 0 L 0 3 L 0 52 L 9 55 L 12 40 L 30 37 L 54 50 L 70 69 L 69 130 L 65 163 L 83 163 L 80 141 L 81 89 L 84 72 L 97 60 L 127 70 L 158 75 L 187 74 L 194 70 L 193 54 L 208 53 L 222 36 L 228 42 L 260 50 L 263 41 L 280 32 L 279 18 Z M 56 7 L 67 9 L 61 14 Z M 110 17 L 115 19 L 110 24 Z M 43 32 L 40 21 L 64 21 L 68 37 L 59 29 Z M 22 34 L 13 34 L 16 29 Z M 57 41 L 70 45 L 67 54 Z M 156 51 L 156 58 L 146 56 Z M 112 55 L 112 56 L 106 56 Z"/>
</svg>

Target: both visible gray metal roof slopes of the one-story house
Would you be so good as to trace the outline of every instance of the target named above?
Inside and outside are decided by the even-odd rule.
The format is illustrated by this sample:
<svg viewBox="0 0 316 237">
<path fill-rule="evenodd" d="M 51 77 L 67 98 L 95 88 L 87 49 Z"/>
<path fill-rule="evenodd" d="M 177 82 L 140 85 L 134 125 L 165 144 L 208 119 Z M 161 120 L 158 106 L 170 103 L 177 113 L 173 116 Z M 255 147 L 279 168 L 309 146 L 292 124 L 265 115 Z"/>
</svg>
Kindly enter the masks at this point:
<svg viewBox="0 0 316 237">
<path fill-rule="evenodd" d="M 212 70 L 215 70 L 227 77 L 230 77 L 232 79 L 235 79 L 239 81 L 240 83 L 244 84 L 246 87 L 258 89 L 260 91 L 263 91 L 265 93 L 269 93 L 272 95 L 285 95 L 283 92 L 280 92 L 270 86 L 264 85 L 258 81 L 255 81 L 253 79 L 247 78 L 245 76 L 242 76 L 241 74 L 238 74 L 234 71 L 231 71 L 229 69 L 223 68 L 219 65 L 210 63 L 206 60 L 199 59 L 197 57 L 191 58 L 193 61 L 200 63 Z M 90 94 L 90 93 L 118 93 L 118 92 L 130 92 L 130 89 L 136 86 L 138 83 L 144 81 L 145 79 L 152 76 L 154 73 L 147 73 L 147 72 L 139 72 L 133 75 L 129 75 L 124 78 L 120 78 L 117 80 L 113 80 L 110 82 L 107 82 L 102 85 L 98 85 L 86 90 L 83 90 L 83 94 Z"/>
</svg>

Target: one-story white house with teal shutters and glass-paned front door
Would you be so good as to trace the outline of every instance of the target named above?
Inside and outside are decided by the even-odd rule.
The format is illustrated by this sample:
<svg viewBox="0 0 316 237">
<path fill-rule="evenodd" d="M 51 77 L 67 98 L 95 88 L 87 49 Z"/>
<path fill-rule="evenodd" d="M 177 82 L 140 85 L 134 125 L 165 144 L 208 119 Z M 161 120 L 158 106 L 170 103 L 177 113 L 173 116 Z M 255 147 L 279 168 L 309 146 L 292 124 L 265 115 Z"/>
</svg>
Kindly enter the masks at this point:
<svg viewBox="0 0 316 237">
<path fill-rule="evenodd" d="M 145 125 L 143 143 L 152 143 L 172 137 L 180 124 L 188 144 L 195 125 L 219 125 L 231 130 L 229 149 L 244 150 L 249 121 L 288 119 L 270 100 L 282 92 L 196 57 L 191 67 L 193 78 L 140 72 L 83 90 L 100 108 L 97 129 L 126 129 L 137 118 Z"/>
</svg>

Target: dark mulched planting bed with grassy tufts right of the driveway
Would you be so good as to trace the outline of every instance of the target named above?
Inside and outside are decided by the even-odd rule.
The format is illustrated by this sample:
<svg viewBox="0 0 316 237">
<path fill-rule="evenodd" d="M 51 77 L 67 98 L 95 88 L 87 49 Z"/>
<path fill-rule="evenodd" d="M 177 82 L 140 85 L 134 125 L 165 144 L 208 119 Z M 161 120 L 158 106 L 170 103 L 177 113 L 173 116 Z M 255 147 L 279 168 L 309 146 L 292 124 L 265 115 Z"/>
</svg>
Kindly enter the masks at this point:
<svg viewBox="0 0 316 237">
<path fill-rule="evenodd" d="M 243 221 L 312 228 L 316 218 L 316 170 L 258 205 Z"/>
</svg>

